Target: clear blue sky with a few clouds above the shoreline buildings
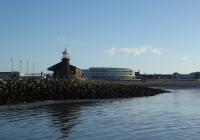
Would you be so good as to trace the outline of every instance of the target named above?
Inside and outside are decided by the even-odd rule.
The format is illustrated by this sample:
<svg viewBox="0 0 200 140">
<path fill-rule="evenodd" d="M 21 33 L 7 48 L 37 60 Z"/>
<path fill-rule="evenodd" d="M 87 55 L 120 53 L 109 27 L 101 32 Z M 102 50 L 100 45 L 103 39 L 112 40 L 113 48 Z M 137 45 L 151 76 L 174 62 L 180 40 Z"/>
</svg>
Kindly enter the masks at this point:
<svg viewBox="0 0 200 140">
<path fill-rule="evenodd" d="M 200 71 L 199 0 L 0 0 L 0 71 L 70 63 L 141 73 Z"/>
</svg>

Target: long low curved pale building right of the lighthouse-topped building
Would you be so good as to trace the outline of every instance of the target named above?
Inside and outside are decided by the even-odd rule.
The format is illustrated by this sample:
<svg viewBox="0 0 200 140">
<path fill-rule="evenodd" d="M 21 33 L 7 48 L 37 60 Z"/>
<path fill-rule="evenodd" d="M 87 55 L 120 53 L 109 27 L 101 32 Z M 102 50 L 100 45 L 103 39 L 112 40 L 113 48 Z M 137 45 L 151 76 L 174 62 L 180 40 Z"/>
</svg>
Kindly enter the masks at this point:
<svg viewBox="0 0 200 140">
<path fill-rule="evenodd" d="M 88 79 L 101 80 L 133 80 L 135 72 L 130 68 L 93 67 L 82 70 L 82 74 Z"/>
</svg>

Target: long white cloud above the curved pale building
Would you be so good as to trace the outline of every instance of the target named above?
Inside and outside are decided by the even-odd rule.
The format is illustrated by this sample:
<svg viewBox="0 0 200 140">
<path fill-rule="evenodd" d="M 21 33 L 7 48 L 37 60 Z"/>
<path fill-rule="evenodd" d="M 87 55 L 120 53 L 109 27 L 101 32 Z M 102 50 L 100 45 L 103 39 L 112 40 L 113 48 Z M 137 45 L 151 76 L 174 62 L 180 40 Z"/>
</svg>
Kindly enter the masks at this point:
<svg viewBox="0 0 200 140">
<path fill-rule="evenodd" d="M 145 53 L 152 53 L 152 54 L 159 55 L 159 54 L 161 54 L 161 50 L 162 50 L 162 48 L 153 48 L 153 47 L 119 48 L 119 49 L 112 47 L 112 48 L 106 50 L 106 53 L 111 56 L 114 56 L 117 54 L 121 54 L 124 56 L 129 56 L 129 55 L 140 56 Z"/>
</svg>

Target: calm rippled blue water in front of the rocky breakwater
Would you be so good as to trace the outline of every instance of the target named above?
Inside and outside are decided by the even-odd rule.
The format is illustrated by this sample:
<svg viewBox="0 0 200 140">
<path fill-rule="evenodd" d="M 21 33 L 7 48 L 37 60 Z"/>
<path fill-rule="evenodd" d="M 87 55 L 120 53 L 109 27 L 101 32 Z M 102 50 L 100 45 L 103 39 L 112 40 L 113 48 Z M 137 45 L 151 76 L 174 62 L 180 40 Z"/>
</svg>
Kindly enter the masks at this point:
<svg viewBox="0 0 200 140">
<path fill-rule="evenodd" d="M 199 140 L 200 89 L 153 97 L 0 107 L 0 140 Z"/>
</svg>

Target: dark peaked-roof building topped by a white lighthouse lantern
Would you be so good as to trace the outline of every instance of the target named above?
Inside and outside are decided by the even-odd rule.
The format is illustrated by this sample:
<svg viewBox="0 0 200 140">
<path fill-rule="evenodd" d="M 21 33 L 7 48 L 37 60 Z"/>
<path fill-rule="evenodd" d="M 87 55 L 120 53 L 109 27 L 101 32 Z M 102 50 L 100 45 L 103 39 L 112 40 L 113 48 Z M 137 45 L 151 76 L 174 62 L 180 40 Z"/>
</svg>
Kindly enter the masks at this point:
<svg viewBox="0 0 200 140">
<path fill-rule="evenodd" d="M 60 63 L 57 63 L 48 68 L 53 71 L 54 78 L 81 78 L 81 70 L 69 63 L 70 57 L 67 50 L 63 52 L 63 58 Z"/>
</svg>

